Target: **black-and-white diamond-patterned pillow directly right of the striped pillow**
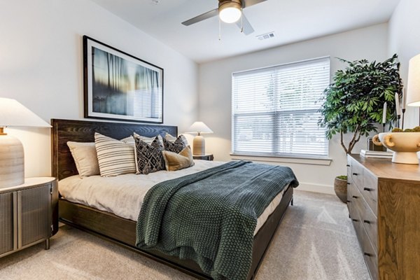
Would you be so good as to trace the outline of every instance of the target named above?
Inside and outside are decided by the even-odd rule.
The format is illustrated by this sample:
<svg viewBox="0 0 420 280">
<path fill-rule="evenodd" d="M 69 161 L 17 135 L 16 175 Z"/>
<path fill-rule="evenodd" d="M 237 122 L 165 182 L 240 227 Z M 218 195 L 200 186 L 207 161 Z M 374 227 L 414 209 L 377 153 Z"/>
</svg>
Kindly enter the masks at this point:
<svg viewBox="0 0 420 280">
<path fill-rule="evenodd" d="M 164 146 L 159 137 L 155 137 L 151 144 L 147 144 L 139 137 L 134 137 L 136 142 L 137 174 L 149 174 L 165 170 L 165 159 L 162 151 Z"/>
</svg>

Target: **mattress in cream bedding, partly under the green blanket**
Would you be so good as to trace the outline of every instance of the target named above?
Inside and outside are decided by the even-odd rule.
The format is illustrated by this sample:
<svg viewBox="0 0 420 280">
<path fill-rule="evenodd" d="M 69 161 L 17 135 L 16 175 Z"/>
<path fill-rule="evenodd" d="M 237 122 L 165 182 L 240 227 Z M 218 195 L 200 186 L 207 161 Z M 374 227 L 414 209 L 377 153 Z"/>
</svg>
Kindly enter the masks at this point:
<svg viewBox="0 0 420 280">
<path fill-rule="evenodd" d="M 155 184 L 194 174 L 223 163 L 225 162 L 195 160 L 195 165 L 187 169 L 176 172 L 160 171 L 147 175 L 124 174 L 115 177 L 89 176 L 84 178 L 75 175 L 59 181 L 58 188 L 60 195 L 69 202 L 76 202 L 137 221 L 144 196 Z M 286 189 L 276 195 L 258 217 L 254 235 L 280 204 Z"/>
</svg>

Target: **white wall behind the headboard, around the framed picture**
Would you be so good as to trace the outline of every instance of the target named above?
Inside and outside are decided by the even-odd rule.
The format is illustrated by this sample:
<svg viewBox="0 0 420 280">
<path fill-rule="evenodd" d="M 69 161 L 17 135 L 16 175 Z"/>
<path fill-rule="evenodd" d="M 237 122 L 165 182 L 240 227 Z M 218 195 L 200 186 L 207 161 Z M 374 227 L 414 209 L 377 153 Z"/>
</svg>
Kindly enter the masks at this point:
<svg viewBox="0 0 420 280">
<path fill-rule="evenodd" d="M 50 118 L 83 119 L 82 36 L 165 69 L 164 123 L 197 119 L 195 62 L 87 0 L 0 1 L 0 97 Z M 8 130 L 25 148 L 25 175 L 50 175 L 50 130 Z"/>
</svg>

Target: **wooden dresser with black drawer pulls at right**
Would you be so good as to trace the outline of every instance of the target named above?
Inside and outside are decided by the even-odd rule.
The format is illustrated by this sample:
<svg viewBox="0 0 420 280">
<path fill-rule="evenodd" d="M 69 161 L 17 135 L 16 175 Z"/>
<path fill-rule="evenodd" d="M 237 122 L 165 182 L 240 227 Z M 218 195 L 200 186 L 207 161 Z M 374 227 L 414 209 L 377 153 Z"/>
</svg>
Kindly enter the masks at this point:
<svg viewBox="0 0 420 280">
<path fill-rule="evenodd" d="M 347 206 L 372 279 L 420 279 L 420 167 L 347 156 Z"/>
</svg>

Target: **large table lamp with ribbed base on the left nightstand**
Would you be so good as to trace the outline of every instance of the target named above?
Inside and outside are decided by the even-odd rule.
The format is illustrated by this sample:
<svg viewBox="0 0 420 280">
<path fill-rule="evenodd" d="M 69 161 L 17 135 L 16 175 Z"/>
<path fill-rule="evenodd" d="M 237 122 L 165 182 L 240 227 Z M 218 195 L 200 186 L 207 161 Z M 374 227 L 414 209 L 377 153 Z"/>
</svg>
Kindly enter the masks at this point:
<svg viewBox="0 0 420 280">
<path fill-rule="evenodd" d="M 25 183 L 22 143 L 5 133 L 5 127 L 51 127 L 51 125 L 15 99 L 0 98 L 0 188 Z"/>
</svg>

